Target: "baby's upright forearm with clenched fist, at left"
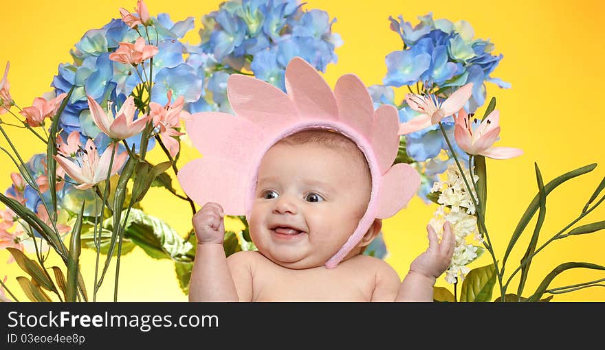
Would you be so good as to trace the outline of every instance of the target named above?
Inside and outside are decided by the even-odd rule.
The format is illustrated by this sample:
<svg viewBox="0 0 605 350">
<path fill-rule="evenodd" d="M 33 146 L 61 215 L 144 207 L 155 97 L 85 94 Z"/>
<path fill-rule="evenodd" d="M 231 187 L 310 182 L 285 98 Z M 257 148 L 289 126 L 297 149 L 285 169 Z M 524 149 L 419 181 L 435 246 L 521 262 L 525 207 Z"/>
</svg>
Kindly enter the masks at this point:
<svg viewBox="0 0 605 350">
<path fill-rule="evenodd" d="M 189 301 L 239 301 L 225 257 L 223 208 L 206 203 L 193 215 L 197 250 L 191 270 Z"/>
</svg>

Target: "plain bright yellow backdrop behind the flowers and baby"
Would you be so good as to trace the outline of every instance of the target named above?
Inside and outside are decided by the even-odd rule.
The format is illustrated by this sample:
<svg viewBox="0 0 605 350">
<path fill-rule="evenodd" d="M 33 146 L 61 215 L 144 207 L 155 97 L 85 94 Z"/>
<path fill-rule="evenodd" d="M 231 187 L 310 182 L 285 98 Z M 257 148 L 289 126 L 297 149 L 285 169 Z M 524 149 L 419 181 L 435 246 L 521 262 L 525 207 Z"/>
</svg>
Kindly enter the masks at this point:
<svg viewBox="0 0 605 350">
<path fill-rule="evenodd" d="M 58 64 L 72 62 L 69 49 L 83 34 L 100 28 L 119 17 L 120 7 L 132 10 L 136 1 L 3 1 L 0 33 L 0 67 L 10 60 L 9 80 L 14 100 L 29 106 L 34 97 L 50 91 Z M 173 21 L 195 17 L 196 29 L 185 39 L 199 43 L 197 29 L 200 17 L 217 10 L 219 1 L 146 1 L 152 15 L 168 12 Z M 602 118 L 605 56 L 602 25 L 603 5 L 599 1 L 319 1 L 309 0 L 305 9 L 326 10 L 336 17 L 333 32 L 339 33 L 344 45 L 336 49 L 338 63 L 329 65 L 325 78 L 333 86 L 344 73 L 356 73 L 366 85 L 380 84 L 386 73 L 384 58 L 401 49 L 398 34 L 389 30 L 388 16 L 401 14 L 412 25 L 417 16 L 433 12 L 434 19 L 465 20 L 474 27 L 475 38 L 489 38 L 495 44 L 494 54 L 504 58 L 492 74 L 511 82 L 512 89 L 500 90 L 487 84 L 487 100 L 496 96 L 500 110 L 500 141 L 496 145 L 522 148 L 525 154 L 506 161 L 487 160 L 488 202 L 487 227 L 502 259 L 509 236 L 527 204 L 536 194 L 533 162 L 538 162 L 544 183 L 555 176 L 589 163 L 599 163 L 591 173 L 570 180 L 556 189 L 547 201 L 540 244 L 554 235 L 580 213 L 584 203 L 605 175 Z M 404 91 L 397 89 L 401 97 Z M 483 108 L 481 109 L 483 110 Z M 10 121 L 12 117 L 1 116 Z M 7 127 L 24 159 L 44 152 L 43 143 L 26 132 Z M 0 145 L 7 146 L 5 140 Z M 159 150 L 159 148 L 157 148 Z M 151 153 L 151 160 L 163 160 L 161 150 Z M 195 150 L 184 150 L 179 166 L 198 156 Z M 0 156 L 0 189 L 10 185 L 14 167 L 7 156 Z M 3 206 L 2 206 L 3 207 Z M 186 202 L 159 189 L 152 189 L 143 207 L 162 218 L 181 235 L 190 229 L 190 209 Z M 424 205 L 414 198 L 407 209 L 384 220 L 384 235 L 391 255 L 387 261 L 399 272 L 407 272 L 412 259 L 427 246 L 425 227 L 435 205 Z M 605 205 L 593 211 L 580 224 L 604 220 Z M 520 260 L 535 219 L 509 259 Z M 565 261 L 588 261 L 605 266 L 605 232 L 568 237 L 550 244 L 539 253 L 531 266 L 524 294 L 533 292 L 542 278 Z M 19 299 L 27 300 L 14 277 L 24 275 L 17 264 L 5 264 L 6 250 L 0 251 L 0 278 L 9 275 L 8 286 Z M 51 258 L 47 266 L 57 264 Z M 115 261 L 115 260 L 114 260 Z M 485 254 L 471 267 L 489 264 Z M 94 252 L 83 250 L 80 259 L 87 288 L 91 294 L 94 278 Z M 113 263 L 112 263 L 113 266 Z M 98 294 L 98 300 L 113 299 L 113 270 Z M 551 287 L 571 285 L 605 277 L 604 271 L 575 269 L 559 275 Z M 443 278 L 437 285 L 449 286 Z M 516 283 L 512 283 L 516 286 Z M 497 285 L 496 285 L 497 288 Z M 451 290 L 451 288 L 450 288 Z M 509 288 L 516 292 L 516 288 Z M 494 289 L 494 296 L 499 295 Z M 175 278 L 173 261 L 155 260 L 140 248 L 122 259 L 120 268 L 120 301 L 186 301 Z M 605 301 L 605 288 L 586 288 L 555 295 L 553 301 Z"/>
</svg>

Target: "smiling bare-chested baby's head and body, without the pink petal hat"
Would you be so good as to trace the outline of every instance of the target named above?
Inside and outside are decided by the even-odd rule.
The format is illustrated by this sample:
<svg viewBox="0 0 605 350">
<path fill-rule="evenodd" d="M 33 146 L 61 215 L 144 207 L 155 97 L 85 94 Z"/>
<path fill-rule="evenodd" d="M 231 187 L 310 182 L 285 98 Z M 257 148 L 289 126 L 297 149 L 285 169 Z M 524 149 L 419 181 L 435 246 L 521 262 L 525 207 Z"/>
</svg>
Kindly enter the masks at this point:
<svg viewBox="0 0 605 350">
<path fill-rule="evenodd" d="M 364 155 L 346 137 L 305 130 L 282 139 L 263 157 L 250 216 L 258 251 L 225 258 L 223 209 L 207 203 L 193 217 L 199 245 L 190 301 L 432 301 L 435 279 L 448 268 L 453 235 L 430 246 L 403 283 L 382 259 L 362 255 L 379 233 L 375 220 L 337 268 L 324 264 L 357 226 L 370 198 Z"/>
</svg>

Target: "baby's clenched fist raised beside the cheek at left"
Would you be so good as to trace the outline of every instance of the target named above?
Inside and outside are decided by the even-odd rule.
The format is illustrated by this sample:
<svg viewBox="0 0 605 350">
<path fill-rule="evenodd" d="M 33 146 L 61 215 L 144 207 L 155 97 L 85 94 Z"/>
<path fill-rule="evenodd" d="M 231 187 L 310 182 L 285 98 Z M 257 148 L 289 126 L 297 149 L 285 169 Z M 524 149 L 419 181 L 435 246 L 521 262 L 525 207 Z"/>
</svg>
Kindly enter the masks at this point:
<svg viewBox="0 0 605 350">
<path fill-rule="evenodd" d="M 197 242 L 201 244 L 223 244 L 225 222 L 223 208 L 217 203 L 208 202 L 191 219 Z"/>
</svg>

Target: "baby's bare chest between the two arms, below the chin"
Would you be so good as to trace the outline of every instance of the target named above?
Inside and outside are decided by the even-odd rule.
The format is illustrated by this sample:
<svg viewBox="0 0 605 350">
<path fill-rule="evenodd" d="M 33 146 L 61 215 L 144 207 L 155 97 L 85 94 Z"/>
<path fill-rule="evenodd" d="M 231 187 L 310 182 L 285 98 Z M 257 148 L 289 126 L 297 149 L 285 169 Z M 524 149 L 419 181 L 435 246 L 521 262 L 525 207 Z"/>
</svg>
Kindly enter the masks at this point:
<svg viewBox="0 0 605 350">
<path fill-rule="evenodd" d="M 253 301 L 371 301 L 373 276 L 347 270 L 270 270 L 255 274 Z"/>
</svg>

